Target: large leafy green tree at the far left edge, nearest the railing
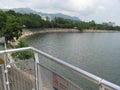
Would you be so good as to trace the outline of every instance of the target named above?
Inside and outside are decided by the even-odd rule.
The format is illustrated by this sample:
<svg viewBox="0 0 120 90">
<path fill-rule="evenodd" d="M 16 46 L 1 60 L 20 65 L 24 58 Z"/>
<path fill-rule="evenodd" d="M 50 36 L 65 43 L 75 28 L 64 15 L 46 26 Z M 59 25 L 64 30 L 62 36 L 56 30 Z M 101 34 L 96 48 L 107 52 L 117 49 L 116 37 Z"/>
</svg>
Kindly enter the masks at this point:
<svg viewBox="0 0 120 90">
<path fill-rule="evenodd" d="M 0 35 L 4 36 L 6 43 L 18 39 L 22 35 L 22 27 L 17 17 L 0 11 Z"/>
</svg>

